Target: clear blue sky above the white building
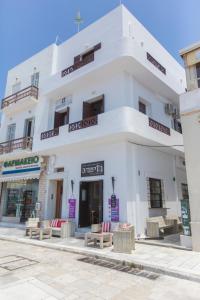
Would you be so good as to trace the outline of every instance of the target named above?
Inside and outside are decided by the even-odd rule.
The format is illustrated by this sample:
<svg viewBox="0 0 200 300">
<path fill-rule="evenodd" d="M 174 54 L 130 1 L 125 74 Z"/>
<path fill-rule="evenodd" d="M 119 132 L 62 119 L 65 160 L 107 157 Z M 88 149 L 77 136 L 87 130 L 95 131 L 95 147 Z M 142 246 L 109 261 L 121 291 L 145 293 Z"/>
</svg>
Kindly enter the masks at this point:
<svg viewBox="0 0 200 300">
<path fill-rule="evenodd" d="M 0 98 L 7 71 L 36 52 L 76 33 L 80 9 L 88 26 L 119 0 L 0 0 Z M 200 0 L 122 0 L 160 43 L 181 62 L 178 51 L 200 40 Z"/>
</svg>

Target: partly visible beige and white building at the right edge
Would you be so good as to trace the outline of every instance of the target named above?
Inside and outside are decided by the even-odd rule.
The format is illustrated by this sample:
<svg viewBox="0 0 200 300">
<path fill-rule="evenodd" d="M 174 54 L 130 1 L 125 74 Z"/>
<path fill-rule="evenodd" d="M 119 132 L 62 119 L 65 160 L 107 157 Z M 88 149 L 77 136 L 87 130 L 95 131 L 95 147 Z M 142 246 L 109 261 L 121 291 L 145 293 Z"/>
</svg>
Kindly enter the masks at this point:
<svg viewBox="0 0 200 300">
<path fill-rule="evenodd" d="M 190 196 L 193 250 L 200 251 L 200 42 L 180 51 L 187 91 L 180 97 L 187 177 Z"/>
</svg>

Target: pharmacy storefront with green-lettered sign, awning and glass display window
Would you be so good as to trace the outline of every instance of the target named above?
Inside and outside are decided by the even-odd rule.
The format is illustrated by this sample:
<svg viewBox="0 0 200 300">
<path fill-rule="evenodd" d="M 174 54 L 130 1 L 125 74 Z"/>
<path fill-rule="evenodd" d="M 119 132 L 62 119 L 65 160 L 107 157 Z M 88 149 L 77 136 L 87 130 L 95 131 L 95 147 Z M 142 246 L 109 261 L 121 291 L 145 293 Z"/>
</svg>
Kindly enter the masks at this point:
<svg viewBox="0 0 200 300">
<path fill-rule="evenodd" d="M 23 223 L 36 216 L 41 159 L 38 156 L 1 164 L 1 220 Z"/>
</svg>

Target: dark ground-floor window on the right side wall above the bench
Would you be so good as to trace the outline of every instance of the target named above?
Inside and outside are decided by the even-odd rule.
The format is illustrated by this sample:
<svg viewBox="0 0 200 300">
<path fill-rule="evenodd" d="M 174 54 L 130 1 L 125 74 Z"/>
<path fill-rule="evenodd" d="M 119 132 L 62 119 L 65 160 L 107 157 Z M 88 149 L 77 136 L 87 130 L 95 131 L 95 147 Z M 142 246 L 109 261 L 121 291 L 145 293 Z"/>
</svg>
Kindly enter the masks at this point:
<svg viewBox="0 0 200 300">
<path fill-rule="evenodd" d="M 162 185 L 160 179 L 149 178 L 151 208 L 162 208 Z"/>
</svg>

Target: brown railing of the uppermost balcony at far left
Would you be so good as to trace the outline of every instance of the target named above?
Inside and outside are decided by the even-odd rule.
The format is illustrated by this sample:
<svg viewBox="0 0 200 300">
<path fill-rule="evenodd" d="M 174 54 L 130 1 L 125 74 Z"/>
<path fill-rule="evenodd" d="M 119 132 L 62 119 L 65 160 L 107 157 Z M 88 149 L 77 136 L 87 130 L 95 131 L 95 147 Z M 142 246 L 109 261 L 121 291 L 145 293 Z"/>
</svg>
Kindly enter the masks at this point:
<svg viewBox="0 0 200 300">
<path fill-rule="evenodd" d="M 2 100 L 1 109 L 9 106 L 12 103 L 16 103 L 17 101 L 26 98 L 26 97 L 33 97 L 38 99 L 38 88 L 36 86 L 29 86 L 15 94 L 12 94 Z"/>
</svg>

